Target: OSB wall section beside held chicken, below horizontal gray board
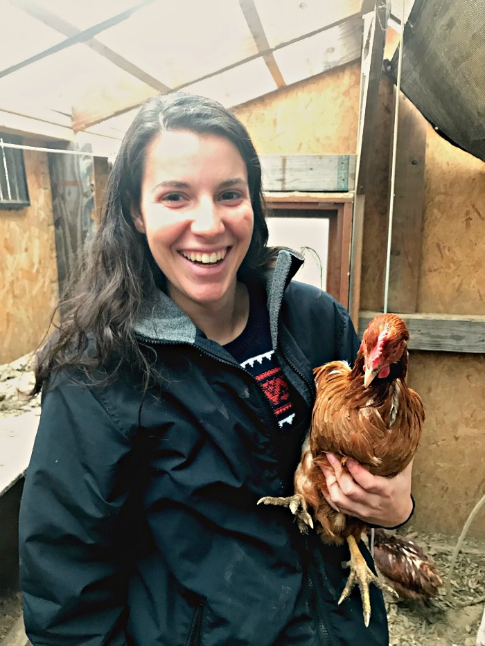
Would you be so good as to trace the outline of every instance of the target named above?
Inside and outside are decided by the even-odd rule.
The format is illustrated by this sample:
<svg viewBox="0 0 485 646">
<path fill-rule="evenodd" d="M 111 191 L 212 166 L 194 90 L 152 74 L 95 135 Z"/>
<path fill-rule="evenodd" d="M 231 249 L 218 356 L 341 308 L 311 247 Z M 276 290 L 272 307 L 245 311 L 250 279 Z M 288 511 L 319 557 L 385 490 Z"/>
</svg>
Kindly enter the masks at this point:
<svg viewBox="0 0 485 646">
<path fill-rule="evenodd" d="M 459 535 L 485 493 L 485 355 L 411 352 L 426 422 L 414 461 L 413 528 Z M 485 508 L 468 536 L 485 537 Z"/>
</svg>

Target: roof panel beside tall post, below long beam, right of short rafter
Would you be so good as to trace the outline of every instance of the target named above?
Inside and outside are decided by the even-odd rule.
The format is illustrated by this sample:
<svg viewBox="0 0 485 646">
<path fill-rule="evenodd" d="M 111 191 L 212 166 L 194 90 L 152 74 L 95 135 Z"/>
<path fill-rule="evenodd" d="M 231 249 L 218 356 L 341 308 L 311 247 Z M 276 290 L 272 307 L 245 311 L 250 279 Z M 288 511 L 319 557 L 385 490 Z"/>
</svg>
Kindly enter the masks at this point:
<svg viewBox="0 0 485 646">
<path fill-rule="evenodd" d="M 362 19 L 357 18 L 274 52 L 287 84 L 360 58 Z"/>
</svg>

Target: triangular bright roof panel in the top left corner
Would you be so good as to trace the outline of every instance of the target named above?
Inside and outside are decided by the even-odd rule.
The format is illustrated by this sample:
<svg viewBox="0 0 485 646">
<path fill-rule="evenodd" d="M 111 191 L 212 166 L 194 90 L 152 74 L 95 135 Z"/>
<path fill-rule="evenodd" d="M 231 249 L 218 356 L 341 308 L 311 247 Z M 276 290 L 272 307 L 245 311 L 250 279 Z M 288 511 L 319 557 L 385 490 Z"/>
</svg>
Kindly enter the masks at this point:
<svg viewBox="0 0 485 646">
<path fill-rule="evenodd" d="M 64 36 L 5 0 L 0 4 L 0 70 L 56 45 Z"/>
</svg>

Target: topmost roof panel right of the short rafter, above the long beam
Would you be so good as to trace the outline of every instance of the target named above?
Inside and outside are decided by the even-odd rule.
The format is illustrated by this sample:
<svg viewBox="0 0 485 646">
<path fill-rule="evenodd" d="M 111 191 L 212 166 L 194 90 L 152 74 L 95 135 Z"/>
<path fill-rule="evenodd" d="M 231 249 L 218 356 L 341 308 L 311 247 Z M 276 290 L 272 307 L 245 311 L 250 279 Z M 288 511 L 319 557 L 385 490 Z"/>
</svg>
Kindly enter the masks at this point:
<svg viewBox="0 0 485 646">
<path fill-rule="evenodd" d="M 270 47 L 360 12 L 361 0 L 255 0 Z"/>
</svg>

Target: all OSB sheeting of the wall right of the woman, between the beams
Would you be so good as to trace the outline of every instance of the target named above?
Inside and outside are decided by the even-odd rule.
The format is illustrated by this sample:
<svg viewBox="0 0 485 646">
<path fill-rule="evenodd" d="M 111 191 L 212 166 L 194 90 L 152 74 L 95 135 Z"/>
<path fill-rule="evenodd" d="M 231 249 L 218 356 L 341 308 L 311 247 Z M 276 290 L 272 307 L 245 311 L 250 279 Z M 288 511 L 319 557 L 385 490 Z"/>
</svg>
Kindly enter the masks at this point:
<svg viewBox="0 0 485 646">
<path fill-rule="evenodd" d="M 360 66 L 351 64 L 236 110 L 263 154 L 353 154 Z M 361 309 L 381 310 L 387 246 L 392 85 L 382 78 L 366 195 Z M 483 163 L 427 132 L 422 312 L 484 314 Z M 413 526 L 457 535 L 485 492 L 485 357 L 412 352 L 409 384 L 427 421 L 414 468 Z M 485 536 L 485 510 L 469 535 Z"/>
</svg>

